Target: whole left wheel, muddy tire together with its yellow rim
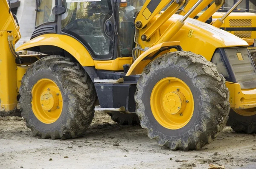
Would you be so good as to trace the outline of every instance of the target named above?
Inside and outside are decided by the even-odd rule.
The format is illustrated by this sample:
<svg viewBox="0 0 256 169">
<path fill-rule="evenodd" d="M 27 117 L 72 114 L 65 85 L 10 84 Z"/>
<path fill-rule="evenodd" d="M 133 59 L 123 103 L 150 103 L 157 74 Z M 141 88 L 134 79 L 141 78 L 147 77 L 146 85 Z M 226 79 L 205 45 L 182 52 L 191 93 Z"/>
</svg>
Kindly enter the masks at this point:
<svg viewBox="0 0 256 169">
<path fill-rule="evenodd" d="M 76 138 L 90 125 L 96 93 L 78 63 L 62 56 L 44 57 L 26 70 L 21 83 L 21 115 L 34 135 Z"/>
</svg>

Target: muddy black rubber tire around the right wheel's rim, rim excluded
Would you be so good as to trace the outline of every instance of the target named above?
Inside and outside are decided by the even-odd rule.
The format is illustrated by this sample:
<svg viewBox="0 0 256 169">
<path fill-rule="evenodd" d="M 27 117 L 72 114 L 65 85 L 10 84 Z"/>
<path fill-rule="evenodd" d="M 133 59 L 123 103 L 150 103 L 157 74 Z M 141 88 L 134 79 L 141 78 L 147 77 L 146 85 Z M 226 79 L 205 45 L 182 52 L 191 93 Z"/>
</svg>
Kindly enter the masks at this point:
<svg viewBox="0 0 256 169">
<path fill-rule="evenodd" d="M 161 126 L 151 111 L 151 91 L 159 80 L 176 77 L 189 86 L 194 112 L 184 127 L 171 130 Z M 158 57 L 148 64 L 137 83 L 136 113 L 148 137 L 172 150 L 200 149 L 212 142 L 225 127 L 230 110 L 229 90 L 214 64 L 192 52 L 178 51 Z"/>
</svg>

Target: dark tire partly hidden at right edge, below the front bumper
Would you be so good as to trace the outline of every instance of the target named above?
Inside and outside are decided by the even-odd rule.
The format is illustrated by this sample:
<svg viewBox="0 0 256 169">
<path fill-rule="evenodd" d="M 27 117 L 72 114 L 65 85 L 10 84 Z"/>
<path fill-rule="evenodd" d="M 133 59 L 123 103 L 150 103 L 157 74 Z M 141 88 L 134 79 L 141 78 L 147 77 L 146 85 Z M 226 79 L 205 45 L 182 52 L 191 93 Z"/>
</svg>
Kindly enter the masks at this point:
<svg viewBox="0 0 256 169">
<path fill-rule="evenodd" d="M 239 115 L 233 109 L 230 109 L 227 126 L 230 126 L 235 132 L 256 133 L 256 115 Z"/>
</svg>

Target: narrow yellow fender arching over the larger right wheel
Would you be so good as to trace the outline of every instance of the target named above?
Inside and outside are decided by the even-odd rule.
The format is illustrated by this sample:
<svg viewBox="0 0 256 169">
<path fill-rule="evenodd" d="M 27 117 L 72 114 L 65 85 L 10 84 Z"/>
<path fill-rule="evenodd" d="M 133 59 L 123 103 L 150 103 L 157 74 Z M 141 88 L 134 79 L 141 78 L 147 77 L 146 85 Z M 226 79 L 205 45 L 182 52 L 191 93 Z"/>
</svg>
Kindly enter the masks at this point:
<svg viewBox="0 0 256 169">
<path fill-rule="evenodd" d="M 177 51 L 182 51 L 180 47 L 180 41 L 175 42 L 163 42 L 153 47 L 149 48 L 143 54 L 141 54 L 131 65 L 126 76 L 140 74 L 143 72 L 143 69 L 154 59 L 160 55 L 166 54 L 170 49 L 175 48 Z"/>
</svg>

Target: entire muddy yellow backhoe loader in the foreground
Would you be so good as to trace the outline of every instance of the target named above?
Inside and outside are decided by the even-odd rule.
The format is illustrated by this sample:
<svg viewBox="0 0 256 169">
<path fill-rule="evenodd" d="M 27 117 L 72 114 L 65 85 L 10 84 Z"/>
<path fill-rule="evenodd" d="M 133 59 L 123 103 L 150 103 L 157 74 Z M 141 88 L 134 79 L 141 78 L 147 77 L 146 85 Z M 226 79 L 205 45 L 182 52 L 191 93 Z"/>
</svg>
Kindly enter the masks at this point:
<svg viewBox="0 0 256 169">
<path fill-rule="evenodd" d="M 256 107 L 248 43 L 189 18 L 203 0 L 184 16 L 175 13 L 185 0 L 162 14 L 170 0 L 75 1 L 37 0 L 35 31 L 15 52 L 19 28 L 0 0 L 0 108 L 14 111 L 19 100 L 33 134 L 76 138 L 95 110 L 136 113 L 158 145 L 200 149 L 230 107 Z"/>
</svg>

